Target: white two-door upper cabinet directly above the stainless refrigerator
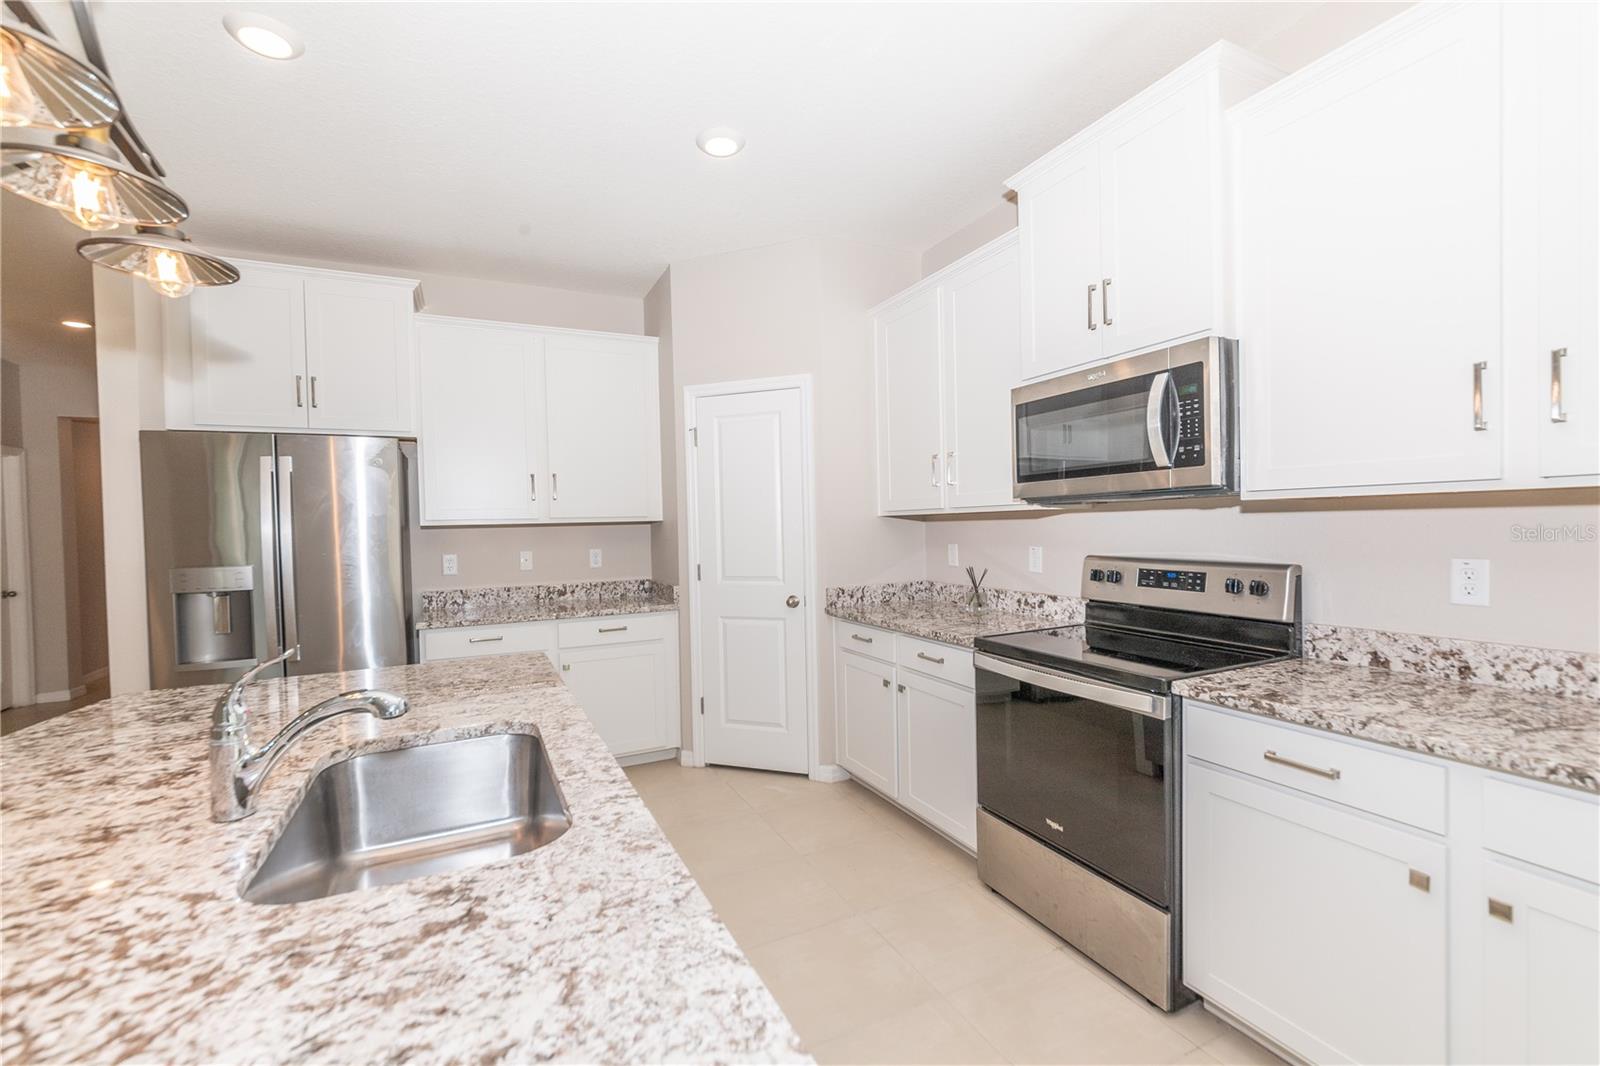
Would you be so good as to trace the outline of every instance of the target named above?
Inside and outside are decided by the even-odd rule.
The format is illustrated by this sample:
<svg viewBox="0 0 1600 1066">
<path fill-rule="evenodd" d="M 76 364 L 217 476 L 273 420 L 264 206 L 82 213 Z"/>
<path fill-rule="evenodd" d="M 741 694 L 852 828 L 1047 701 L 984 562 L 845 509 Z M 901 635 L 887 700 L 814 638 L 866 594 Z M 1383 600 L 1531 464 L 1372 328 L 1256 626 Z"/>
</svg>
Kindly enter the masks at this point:
<svg viewBox="0 0 1600 1066">
<path fill-rule="evenodd" d="M 413 432 L 414 280 L 234 262 L 168 346 L 170 429 Z"/>
</svg>

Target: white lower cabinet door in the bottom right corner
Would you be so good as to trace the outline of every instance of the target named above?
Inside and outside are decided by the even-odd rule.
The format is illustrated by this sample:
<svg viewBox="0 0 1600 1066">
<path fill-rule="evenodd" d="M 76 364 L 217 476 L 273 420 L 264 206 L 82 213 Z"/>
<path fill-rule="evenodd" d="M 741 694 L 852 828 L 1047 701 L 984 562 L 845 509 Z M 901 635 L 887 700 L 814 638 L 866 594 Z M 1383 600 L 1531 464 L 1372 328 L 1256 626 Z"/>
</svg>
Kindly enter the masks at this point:
<svg viewBox="0 0 1600 1066">
<path fill-rule="evenodd" d="M 1483 890 L 1483 1061 L 1600 1061 L 1600 896 L 1494 860 Z"/>
</svg>

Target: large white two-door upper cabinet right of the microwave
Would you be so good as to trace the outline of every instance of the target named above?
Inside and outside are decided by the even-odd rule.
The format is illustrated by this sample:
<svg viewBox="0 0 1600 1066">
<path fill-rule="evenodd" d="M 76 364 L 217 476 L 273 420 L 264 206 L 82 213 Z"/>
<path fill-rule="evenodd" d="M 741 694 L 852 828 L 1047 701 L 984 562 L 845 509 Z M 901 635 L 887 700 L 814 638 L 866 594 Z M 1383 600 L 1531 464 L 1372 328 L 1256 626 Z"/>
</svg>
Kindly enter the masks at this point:
<svg viewBox="0 0 1600 1066">
<path fill-rule="evenodd" d="M 1419 5 L 1230 120 L 1246 498 L 1600 469 L 1592 5 Z"/>
</svg>

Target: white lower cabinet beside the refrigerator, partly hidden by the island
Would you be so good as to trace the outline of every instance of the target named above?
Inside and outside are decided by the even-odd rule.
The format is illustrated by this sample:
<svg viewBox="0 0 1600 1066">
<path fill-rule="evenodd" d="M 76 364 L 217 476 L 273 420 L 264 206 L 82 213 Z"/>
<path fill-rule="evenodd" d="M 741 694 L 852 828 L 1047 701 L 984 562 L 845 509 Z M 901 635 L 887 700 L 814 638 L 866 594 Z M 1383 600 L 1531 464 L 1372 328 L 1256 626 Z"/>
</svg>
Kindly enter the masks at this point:
<svg viewBox="0 0 1600 1066">
<path fill-rule="evenodd" d="M 680 746 L 677 615 L 424 629 L 424 663 L 546 651 L 613 755 Z"/>
</svg>

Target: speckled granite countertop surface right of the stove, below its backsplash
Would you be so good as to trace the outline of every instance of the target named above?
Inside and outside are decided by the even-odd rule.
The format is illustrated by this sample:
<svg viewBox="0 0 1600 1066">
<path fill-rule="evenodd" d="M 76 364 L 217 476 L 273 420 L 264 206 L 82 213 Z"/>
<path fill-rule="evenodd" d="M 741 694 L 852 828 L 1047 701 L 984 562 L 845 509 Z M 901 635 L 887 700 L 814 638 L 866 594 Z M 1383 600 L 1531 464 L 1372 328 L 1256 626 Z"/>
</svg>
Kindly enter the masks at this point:
<svg viewBox="0 0 1600 1066">
<path fill-rule="evenodd" d="M 1600 792 L 1600 703 L 1317 659 L 1246 666 L 1173 691 L 1294 725 Z"/>
</svg>

